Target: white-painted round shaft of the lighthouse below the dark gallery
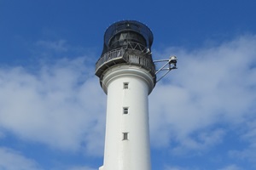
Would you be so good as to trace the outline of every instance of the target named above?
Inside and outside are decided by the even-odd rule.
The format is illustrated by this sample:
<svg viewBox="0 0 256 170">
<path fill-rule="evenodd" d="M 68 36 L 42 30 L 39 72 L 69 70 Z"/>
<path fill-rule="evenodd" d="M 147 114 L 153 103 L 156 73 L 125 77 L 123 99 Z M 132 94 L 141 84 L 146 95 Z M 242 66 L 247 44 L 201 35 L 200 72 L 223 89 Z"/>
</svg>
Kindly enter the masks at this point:
<svg viewBox="0 0 256 170">
<path fill-rule="evenodd" d="M 124 89 L 124 82 L 129 82 Z M 119 65 L 102 79 L 108 94 L 104 163 L 100 170 L 150 170 L 148 94 L 154 78 L 136 65 Z M 128 107 L 129 113 L 123 114 Z M 123 140 L 128 133 L 128 140 Z"/>
</svg>

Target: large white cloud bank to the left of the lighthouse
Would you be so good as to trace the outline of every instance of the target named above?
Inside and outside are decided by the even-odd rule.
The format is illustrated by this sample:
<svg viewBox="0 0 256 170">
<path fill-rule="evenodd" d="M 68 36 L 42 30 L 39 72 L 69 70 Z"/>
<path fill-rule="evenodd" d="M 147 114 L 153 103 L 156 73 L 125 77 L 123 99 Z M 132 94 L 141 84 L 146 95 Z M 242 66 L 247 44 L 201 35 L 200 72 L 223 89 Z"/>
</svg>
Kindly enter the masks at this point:
<svg viewBox="0 0 256 170">
<path fill-rule="evenodd" d="M 85 60 L 61 59 L 37 74 L 1 69 L 0 127 L 24 140 L 102 155 L 105 94 Z"/>
</svg>

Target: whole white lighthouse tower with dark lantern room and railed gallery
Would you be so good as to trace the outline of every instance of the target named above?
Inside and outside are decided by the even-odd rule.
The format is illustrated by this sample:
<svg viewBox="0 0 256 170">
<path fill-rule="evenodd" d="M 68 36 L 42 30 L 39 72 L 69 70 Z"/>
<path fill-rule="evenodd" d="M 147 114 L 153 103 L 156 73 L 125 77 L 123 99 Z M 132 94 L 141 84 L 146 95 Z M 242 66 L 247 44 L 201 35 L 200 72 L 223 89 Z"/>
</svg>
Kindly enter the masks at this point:
<svg viewBox="0 0 256 170">
<path fill-rule="evenodd" d="M 109 26 L 96 76 L 108 94 L 100 170 L 150 170 L 148 94 L 156 83 L 152 31 L 135 20 Z"/>
</svg>

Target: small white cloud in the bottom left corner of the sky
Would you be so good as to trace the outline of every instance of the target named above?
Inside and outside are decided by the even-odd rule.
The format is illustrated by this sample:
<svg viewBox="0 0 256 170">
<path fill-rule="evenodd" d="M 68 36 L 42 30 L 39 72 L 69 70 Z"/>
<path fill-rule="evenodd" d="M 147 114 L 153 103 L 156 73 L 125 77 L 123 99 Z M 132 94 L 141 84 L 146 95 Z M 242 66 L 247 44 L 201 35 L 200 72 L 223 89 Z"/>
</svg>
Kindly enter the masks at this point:
<svg viewBox="0 0 256 170">
<path fill-rule="evenodd" d="M 38 164 L 21 156 L 20 153 L 15 150 L 10 150 L 7 148 L 0 148 L 0 169 L 8 170 L 40 170 Z"/>
</svg>

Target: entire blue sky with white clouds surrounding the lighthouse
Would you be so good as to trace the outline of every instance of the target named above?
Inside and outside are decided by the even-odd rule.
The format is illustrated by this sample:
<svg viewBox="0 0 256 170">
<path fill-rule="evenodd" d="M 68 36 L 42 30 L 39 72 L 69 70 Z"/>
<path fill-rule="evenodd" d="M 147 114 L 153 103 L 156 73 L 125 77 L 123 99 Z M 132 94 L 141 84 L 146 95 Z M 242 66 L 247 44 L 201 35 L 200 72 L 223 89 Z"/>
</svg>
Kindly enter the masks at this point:
<svg viewBox="0 0 256 170">
<path fill-rule="evenodd" d="M 94 67 L 119 20 L 178 69 L 149 96 L 153 170 L 256 168 L 256 2 L 0 0 L 0 169 L 102 166 Z"/>
</svg>

